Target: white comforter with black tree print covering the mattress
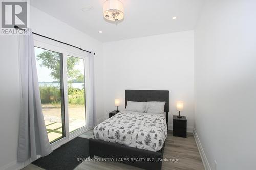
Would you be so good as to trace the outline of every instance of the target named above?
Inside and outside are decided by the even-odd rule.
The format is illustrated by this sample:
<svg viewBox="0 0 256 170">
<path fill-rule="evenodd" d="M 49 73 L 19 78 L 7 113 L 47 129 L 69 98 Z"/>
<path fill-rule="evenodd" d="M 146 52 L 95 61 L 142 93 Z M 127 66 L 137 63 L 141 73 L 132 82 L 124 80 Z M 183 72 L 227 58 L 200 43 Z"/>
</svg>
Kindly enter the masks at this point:
<svg viewBox="0 0 256 170">
<path fill-rule="evenodd" d="M 159 151 L 167 137 L 165 115 L 120 111 L 98 124 L 93 136 L 106 142 Z"/>
</svg>

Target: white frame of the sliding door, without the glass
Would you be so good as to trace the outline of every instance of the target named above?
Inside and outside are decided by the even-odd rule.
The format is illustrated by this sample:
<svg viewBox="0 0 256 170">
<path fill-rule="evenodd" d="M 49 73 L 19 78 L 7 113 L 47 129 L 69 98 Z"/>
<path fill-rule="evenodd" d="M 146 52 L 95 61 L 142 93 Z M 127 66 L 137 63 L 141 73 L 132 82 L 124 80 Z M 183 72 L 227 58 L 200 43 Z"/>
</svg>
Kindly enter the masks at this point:
<svg viewBox="0 0 256 170">
<path fill-rule="evenodd" d="M 61 44 L 59 42 L 40 37 L 34 35 L 34 46 L 38 48 L 43 48 L 45 50 L 50 50 L 54 52 L 58 52 L 62 54 L 62 68 L 63 68 L 63 99 L 64 99 L 64 117 L 65 117 L 65 137 L 51 143 L 51 148 L 54 150 L 61 145 L 67 143 L 68 141 L 74 139 L 75 137 L 81 135 L 82 133 L 89 130 L 88 128 L 88 111 L 89 105 L 87 104 L 89 101 L 89 85 L 85 83 L 85 107 L 86 107 L 86 126 L 83 126 L 71 133 L 69 133 L 69 114 L 68 114 L 68 75 L 67 75 L 67 56 L 77 57 L 84 60 L 84 81 L 87 82 L 87 78 L 89 77 L 89 54 L 87 52 L 83 52 L 74 47 Z M 62 109 L 62 108 L 61 108 Z"/>
</svg>

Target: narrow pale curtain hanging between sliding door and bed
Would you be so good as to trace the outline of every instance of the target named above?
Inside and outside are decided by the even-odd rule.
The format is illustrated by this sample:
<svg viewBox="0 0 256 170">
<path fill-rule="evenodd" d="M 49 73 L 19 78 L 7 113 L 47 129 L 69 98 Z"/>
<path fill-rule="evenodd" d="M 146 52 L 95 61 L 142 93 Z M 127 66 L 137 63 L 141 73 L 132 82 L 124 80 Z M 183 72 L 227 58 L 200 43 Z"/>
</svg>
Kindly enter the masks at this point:
<svg viewBox="0 0 256 170">
<path fill-rule="evenodd" d="M 89 113 L 88 113 L 88 127 L 93 128 L 96 124 L 96 108 L 95 108 L 95 90 L 94 90 L 94 52 L 89 55 Z"/>
</svg>

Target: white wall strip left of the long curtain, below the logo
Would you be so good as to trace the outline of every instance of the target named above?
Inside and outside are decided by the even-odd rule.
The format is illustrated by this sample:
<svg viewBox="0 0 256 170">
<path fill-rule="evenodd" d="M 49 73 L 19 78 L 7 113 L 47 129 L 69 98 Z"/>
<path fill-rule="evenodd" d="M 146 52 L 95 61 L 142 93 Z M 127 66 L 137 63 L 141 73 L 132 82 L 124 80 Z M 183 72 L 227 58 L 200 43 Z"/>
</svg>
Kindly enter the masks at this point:
<svg viewBox="0 0 256 170">
<path fill-rule="evenodd" d="M 16 36 L 0 36 L 0 169 L 13 164 L 19 129 L 19 64 Z"/>
</svg>

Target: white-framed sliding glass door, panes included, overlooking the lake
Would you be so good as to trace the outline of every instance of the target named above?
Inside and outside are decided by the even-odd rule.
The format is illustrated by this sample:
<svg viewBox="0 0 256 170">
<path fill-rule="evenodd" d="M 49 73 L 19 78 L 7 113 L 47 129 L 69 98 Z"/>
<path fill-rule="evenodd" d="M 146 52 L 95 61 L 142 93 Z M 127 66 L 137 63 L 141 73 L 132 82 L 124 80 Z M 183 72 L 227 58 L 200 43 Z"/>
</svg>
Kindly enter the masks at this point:
<svg viewBox="0 0 256 170">
<path fill-rule="evenodd" d="M 42 112 L 54 146 L 87 129 L 87 55 L 48 39 L 35 40 Z"/>
</svg>

